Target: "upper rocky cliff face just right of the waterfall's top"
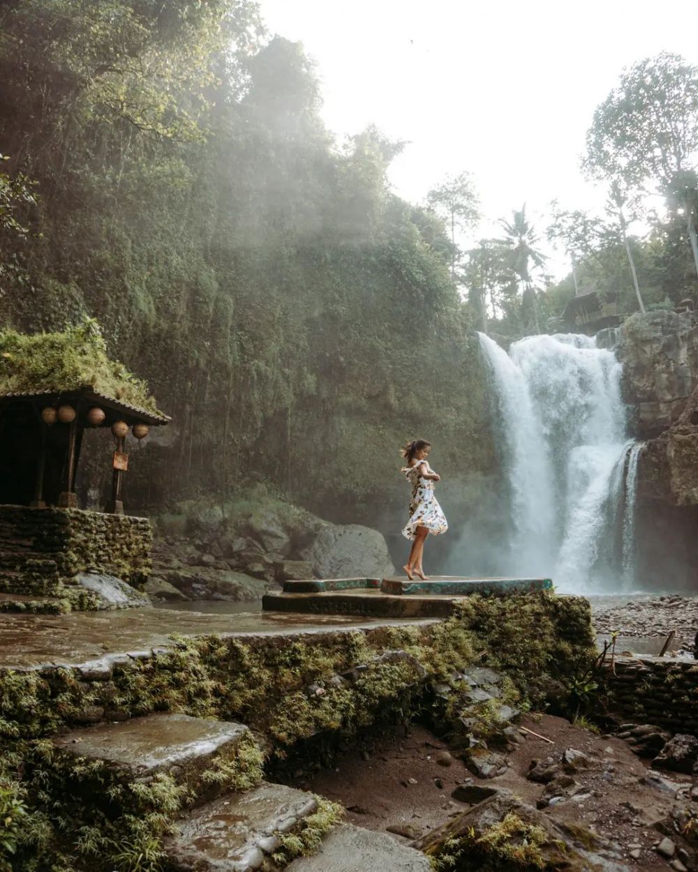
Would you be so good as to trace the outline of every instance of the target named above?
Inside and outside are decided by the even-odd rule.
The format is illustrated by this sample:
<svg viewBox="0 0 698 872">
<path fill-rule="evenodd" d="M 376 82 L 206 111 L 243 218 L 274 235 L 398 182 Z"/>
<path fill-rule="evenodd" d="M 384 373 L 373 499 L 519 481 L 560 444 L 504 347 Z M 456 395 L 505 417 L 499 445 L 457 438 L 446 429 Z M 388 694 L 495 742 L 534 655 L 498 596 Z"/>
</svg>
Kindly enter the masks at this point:
<svg viewBox="0 0 698 872">
<path fill-rule="evenodd" d="M 688 313 L 633 315 L 620 328 L 616 353 L 633 430 L 654 439 L 679 419 L 698 384 L 698 324 Z"/>
</svg>

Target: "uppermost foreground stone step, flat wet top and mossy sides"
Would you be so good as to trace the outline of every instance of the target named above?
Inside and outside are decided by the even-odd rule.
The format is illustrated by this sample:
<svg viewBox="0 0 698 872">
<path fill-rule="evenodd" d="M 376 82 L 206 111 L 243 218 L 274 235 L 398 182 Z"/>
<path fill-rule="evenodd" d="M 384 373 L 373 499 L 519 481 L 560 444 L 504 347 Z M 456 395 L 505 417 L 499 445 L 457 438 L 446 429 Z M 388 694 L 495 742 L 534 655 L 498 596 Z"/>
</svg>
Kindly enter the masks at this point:
<svg viewBox="0 0 698 872">
<path fill-rule="evenodd" d="M 185 714 L 151 714 L 119 723 L 74 730 L 52 739 L 58 768 L 72 769 L 66 780 L 76 796 L 120 797 L 117 811 L 141 811 L 142 791 L 163 776 L 186 789 L 185 805 L 206 801 L 231 787 L 261 780 L 263 755 L 250 729 L 230 721 Z M 102 766 L 86 766 L 92 762 Z"/>
</svg>

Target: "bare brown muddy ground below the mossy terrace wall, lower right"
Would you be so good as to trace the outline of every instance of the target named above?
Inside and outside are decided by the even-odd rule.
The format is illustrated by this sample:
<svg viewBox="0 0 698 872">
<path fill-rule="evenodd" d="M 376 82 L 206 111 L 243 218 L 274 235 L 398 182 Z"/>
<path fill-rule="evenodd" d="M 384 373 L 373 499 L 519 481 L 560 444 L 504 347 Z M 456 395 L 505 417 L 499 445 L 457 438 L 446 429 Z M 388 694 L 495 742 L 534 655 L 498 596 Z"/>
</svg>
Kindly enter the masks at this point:
<svg viewBox="0 0 698 872">
<path fill-rule="evenodd" d="M 548 758 L 557 762 L 571 748 L 584 753 L 588 762 L 573 775 L 575 785 L 569 789 L 574 795 L 555 800 L 544 814 L 558 823 L 588 828 L 595 849 L 611 862 L 647 872 L 682 868 L 678 855 L 671 858 L 673 867 L 658 855 L 655 848 L 664 834 L 654 827 L 670 814 L 678 789 L 688 794 L 690 776 L 664 773 L 665 789 L 660 789 L 643 783 L 649 761 L 640 760 L 621 739 L 551 715 L 527 716 L 518 726 L 551 741 L 520 730 L 520 744 L 507 754 L 508 771 L 494 779 L 476 778 L 433 732 L 412 726 L 362 739 L 329 768 L 298 766 L 288 780 L 341 802 L 349 821 L 408 842 L 471 807 L 452 795 L 464 782 L 507 787 L 535 807 L 551 790 L 527 779 L 531 766 Z"/>
</svg>

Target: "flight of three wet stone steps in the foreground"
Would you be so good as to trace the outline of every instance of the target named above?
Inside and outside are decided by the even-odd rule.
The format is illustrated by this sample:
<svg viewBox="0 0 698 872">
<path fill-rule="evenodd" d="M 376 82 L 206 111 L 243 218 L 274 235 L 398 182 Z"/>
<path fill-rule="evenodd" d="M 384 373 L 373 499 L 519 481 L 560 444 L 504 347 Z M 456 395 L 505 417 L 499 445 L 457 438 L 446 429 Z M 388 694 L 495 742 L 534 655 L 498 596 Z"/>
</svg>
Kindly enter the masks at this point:
<svg viewBox="0 0 698 872">
<path fill-rule="evenodd" d="M 170 821 L 168 872 L 430 869 L 425 855 L 389 835 L 339 823 L 328 800 L 263 781 L 263 755 L 240 724 L 153 714 L 70 732 L 53 747 L 76 808 L 92 803 L 110 820 L 142 819 L 163 791 L 176 798 L 160 809 Z"/>
</svg>

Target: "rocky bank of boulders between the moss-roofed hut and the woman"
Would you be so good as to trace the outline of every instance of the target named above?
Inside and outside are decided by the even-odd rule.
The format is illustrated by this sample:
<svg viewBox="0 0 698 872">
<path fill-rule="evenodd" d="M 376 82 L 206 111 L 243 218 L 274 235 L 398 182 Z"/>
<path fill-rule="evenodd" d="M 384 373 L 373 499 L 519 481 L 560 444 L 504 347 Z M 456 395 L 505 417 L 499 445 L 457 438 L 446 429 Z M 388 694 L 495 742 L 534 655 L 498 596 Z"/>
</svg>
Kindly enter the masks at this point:
<svg viewBox="0 0 698 872">
<path fill-rule="evenodd" d="M 213 506 L 190 501 L 154 518 L 155 600 L 253 602 L 291 578 L 393 575 L 386 541 L 359 524 L 331 524 L 257 494 Z"/>
</svg>

